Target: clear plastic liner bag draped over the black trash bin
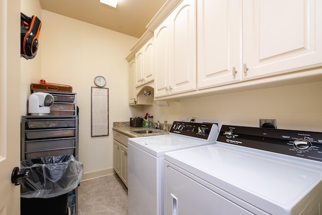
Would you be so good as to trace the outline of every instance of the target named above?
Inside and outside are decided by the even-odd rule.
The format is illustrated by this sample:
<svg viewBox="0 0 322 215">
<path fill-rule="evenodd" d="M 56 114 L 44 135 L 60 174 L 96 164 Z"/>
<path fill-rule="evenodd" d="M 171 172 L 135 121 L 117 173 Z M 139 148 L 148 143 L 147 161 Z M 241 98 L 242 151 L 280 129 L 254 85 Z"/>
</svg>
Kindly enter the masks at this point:
<svg viewBox="0 0 322 215">
<path fill-rule="evenodd" d="M 29 169 L 21 180 L 22 198 L 52 198 L 75 189 L 83 176 L 83 164 L 72 155 L 21 161 L 21 170 Z"/>
</svg>

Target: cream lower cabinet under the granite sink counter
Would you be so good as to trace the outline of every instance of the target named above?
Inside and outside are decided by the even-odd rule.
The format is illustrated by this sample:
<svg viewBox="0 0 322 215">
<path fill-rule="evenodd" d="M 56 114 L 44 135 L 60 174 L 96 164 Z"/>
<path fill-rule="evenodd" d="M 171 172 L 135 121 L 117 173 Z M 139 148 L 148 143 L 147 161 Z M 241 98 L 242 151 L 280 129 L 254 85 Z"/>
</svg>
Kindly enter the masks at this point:
<svg viewBox="0 0 322 215">
<path fill-rule="evenodd" d="M 113 131 L 113 169 L 127 187 L 127 139 L 129 137 Z"/>
</svg>

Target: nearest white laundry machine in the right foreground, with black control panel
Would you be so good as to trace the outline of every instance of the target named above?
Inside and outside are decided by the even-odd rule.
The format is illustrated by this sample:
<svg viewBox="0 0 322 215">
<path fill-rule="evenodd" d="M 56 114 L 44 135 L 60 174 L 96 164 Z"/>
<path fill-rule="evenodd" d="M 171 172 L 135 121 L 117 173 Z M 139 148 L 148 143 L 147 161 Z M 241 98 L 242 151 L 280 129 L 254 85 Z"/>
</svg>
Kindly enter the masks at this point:
<svg viewBox="0 0 322 215">
<path fill-rule="evenodd" d="M 222 125 L 165 154 L 165 214 L 321 214 L 322 133 Z"/>
</svg>

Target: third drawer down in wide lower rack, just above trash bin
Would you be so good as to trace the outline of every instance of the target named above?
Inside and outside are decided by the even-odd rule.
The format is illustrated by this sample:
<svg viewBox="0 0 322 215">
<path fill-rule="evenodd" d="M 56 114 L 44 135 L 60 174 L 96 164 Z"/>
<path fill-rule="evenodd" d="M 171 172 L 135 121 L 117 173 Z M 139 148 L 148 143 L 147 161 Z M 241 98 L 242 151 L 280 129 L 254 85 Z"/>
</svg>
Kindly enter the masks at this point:
<svg viewBox="0 0 322 215">
<path fill-rule="evenodd" d="M 50 139 L 41 141 L 26 141 L 25 152 L 35 152 L 43 150 L 56 150 L 75 147 L 75 138 L 70 139 Z"/>
</svg>

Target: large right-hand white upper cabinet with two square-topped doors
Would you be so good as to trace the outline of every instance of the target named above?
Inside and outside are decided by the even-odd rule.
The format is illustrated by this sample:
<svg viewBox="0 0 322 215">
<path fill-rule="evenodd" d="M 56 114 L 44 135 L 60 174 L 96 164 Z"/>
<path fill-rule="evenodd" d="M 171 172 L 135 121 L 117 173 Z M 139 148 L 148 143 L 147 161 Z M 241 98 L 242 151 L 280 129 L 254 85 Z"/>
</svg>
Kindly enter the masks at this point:
<svg viewBox="0 0 322 215">
<path fill-rule="evenodd" d="M 322 65 L 322 1 L 198 1 L 198 89 Z"/>
</svg>

